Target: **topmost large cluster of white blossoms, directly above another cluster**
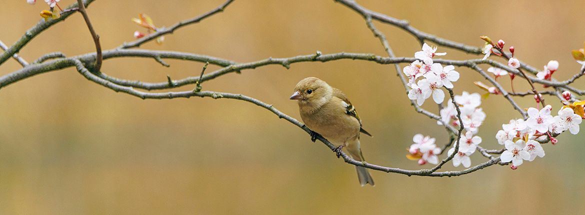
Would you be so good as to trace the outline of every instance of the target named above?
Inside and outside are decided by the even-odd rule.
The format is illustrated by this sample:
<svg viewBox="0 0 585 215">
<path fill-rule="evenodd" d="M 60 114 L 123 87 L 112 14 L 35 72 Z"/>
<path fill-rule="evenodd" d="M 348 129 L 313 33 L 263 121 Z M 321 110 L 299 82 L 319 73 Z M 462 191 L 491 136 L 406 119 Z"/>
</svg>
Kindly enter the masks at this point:
<svg viewBox="0 0 585 215">
<path fill-rule="evenodd" d="M 443 67 L 439 63 L 433 63 L 433 57 L 446 54 L 436 53 L 436 49 L 436 47 L 425 43 L 422 46 L 422 51 L 417 51 L 414 54 L 414 57 L 419 60 L 404 67 L 404 74 L 407 75 L 408 86 L 411 88 L 408 92 L 408 98 L 417 100 L 419 106 L 431 95 L 436 103 L 443 103 L 445 92 L 441 88 L 443 86 L 453 88 L 452 82 L 459 79 L 459 72 L 455 71 L 453 65 Z"/>
</svg>

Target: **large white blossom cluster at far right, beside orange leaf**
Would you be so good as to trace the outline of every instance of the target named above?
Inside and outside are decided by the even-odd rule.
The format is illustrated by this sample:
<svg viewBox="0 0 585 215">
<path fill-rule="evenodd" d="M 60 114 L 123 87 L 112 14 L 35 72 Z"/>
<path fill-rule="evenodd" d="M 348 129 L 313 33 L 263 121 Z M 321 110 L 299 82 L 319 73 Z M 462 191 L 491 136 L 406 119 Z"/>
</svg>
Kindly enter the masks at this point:
<svg viewBox="0 0 585 215">
<path fill-rule="evenodd" d="M 580 107 L 583 108 L 582 105 Z M 502 125 L 502 130 L 495 135 L 498 143 L 506 148 L 500 157 L 502 162 L 512 162 L 512 169 L 515 169 L 525 160 L 534 161 L 537 156 L 545 156 L 540 141 L 549 138 L 555 144 L 558 141 L 553 137 L 555 135 L 567 130 L 572 134 L 579 133 L 583 116 L 577 115 L 573 108 L 563 107 L 558 116 L 553 117 L 551 110 L 550 105 L 541 110 L 529 108 L 528 119 L 510 120 L 510 123 Z"/>
</svg>

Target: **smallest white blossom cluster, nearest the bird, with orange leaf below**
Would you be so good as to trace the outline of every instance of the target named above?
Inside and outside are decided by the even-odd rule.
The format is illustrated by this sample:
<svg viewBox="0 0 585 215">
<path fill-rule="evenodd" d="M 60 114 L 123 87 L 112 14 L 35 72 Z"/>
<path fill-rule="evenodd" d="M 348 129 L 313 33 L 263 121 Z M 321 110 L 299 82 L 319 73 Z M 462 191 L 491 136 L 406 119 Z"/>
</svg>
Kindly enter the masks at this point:
<svg viewBox="0 0 585 215">
<path fill-rule="evenodd" d="M 439 158 L 437 157 L 438 154 L 441 154 L 441 148 L 437 147 L 435 144 L 435 138 L 431 138 L 429 136 L 422 136 L 422 134 L 416 134 L 412 137 L 412 141 L 414 144 L 408 148 L 408 152 L 406 157 L 413 161 L 418 160 L 418 164 L 424 165 L 427 162 L 431 164 L 438 164 Z"/>
</svg>

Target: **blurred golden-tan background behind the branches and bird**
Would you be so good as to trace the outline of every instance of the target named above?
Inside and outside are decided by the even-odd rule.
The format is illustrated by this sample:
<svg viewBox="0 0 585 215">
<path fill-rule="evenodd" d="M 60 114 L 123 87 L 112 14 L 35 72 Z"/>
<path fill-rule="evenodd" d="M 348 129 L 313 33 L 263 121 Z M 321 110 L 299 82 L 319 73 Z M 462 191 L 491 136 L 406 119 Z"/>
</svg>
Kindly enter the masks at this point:
<svg viewBox="0 0 585 215">
<path fill-rule="evenodd" d="M 62 0 L 66 6 L 72 0 Z M 88 8 L 104 49 L 133 40 L 130 22 L 146 13 L 170 26 L 215 8 L 214 1 L 96 1 Z M 558 60 L 558 79 L 579 70 L 570 50 L 583 47 L 584 1 L 360 1 L 425 32 L 474 46 L 479 36 L 504 39 L 517 57 L 541 68 Z M 39 22 L 43 1 L 3 1 L 0 40 L 11 45 Z M 418 42 L 377 23 L 398 56 L 412 57 Z M 207 54 L 238 62 L 301 54 L 375 53 L 379 41 L 357 13 L 333 1 L 235 1 L 224 13 L 177 30 L 162 45 L 142 48 Z M 20 51 L 33 61 L 44 53 L 75 56 L 94 51 L 80 15 L 46 30 Z M 449 48 L 446 58 L 477 58 Z M 102 71 L 119 78 L 165 81 L 198 75 L 202 64 L 152 59 L 107 60 Z M 402 65 L 404 67 L 404 65 Z M 14 60 L 2 75 L 18 70 Z M 218 67 L 209 67 L 212 71 Z M 484 81 L 459 68 L 455 91 L 481 92 Z M 270 65 L 205 82 L 212 91 L 237 92 L 299 118 L 288 100 L 294 85 L 315 76 L 346 92 L 359 110 L 367 161 L 405 169 L 412 136 L 447 141 L 442 127 L 417 115 L 391 65 L 339 60 Z M 500 81 L 508 87 L 509 79 Z M 486 81 L 484 81 L 486 82 Z M 576 86 L 583 88 L 583 80 Z M 517 89 L 528 89 L 522 81 Z M 191 89 L 192 86 L 180 90 Z M 549 98 L 555 110 L 560 103 Z M 525 108 L 531 98 L 519 99 Z M 431 101 L 425 108 L 436 112 Z M 501 148 L 495 133 L 519 117 L 504 99 L 483 100 L 487 120 L 481 145 Z M 516 171 L 495 166 L 455 178 L 371 172 L 376 186 L 360 187 L 353 166 L 272 113 L 239 100 L 141 100 L 87 81 L 73 68 L 38 75 L 0 90 L 0 214 L 562 214 L 585 209 L 583 133 L 545 145 L 546 157 Z M 485 161 L 479 154 L 474 164 Z M 457 170 L 451 164 L 446 170 Z"/>
</svg>

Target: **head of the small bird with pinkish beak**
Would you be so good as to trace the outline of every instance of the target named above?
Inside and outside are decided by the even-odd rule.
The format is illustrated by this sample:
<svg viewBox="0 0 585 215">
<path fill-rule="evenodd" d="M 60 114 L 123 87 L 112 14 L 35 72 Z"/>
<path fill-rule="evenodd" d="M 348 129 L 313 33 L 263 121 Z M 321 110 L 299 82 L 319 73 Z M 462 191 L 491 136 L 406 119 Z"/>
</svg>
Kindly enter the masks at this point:
<svg viewBox="0 0 585 215">
<path fill-rule="evenodd" d="M 298 100 L 299 105 L 321 107 L 331 99 L 333 89 L 319 78 L 308 77 L 298 82 L 290 99 Z"/>
</svg>

